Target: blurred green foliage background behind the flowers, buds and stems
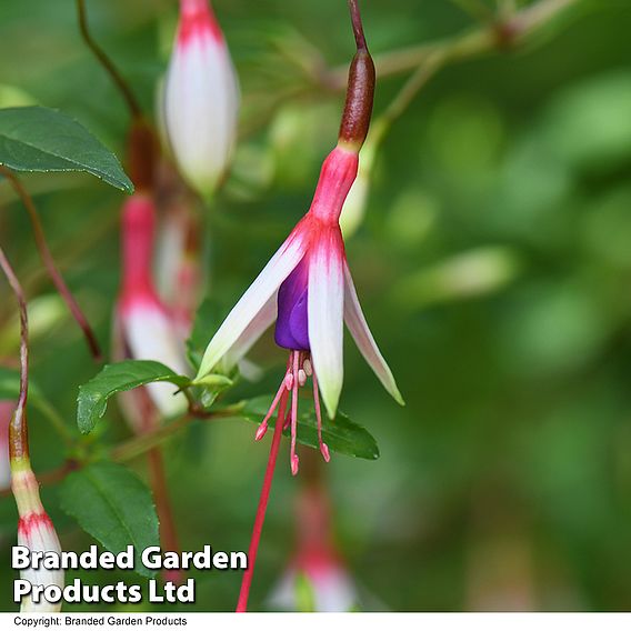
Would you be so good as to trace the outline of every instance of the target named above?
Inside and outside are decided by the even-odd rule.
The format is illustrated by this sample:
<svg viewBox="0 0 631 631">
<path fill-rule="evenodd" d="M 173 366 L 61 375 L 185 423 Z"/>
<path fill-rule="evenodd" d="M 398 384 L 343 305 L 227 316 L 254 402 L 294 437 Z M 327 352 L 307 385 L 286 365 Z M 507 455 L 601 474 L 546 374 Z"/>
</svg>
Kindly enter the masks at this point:
<svg viewBox="0 0 631 631">
<path fill-rule="evenodd" d="M 342 0 L 213 6 L 243 94 L 233 173 L 204 211 L 207 293 L 229 307 L 307 210 L 334 144 L 341 96 L 303 89 L 297 60 L 320 51 L 343 64 L 352 38 Z M 151 110 L 177 3 L 90 0 L 88 9 L 96 39 Z M 363 13 L 377 57 L 475 27 L 448 0 L 367 0 Z M 373 433 L 381 458 L 333 454 L 327 467 L 338 545 L 368 609 L 631 608 L 629 32 L 628 0 L 579 1 L 519 50 L 441 71 L 377 154 L 365 220 L 347 250 L 408 404 L 389 399 L 349 340 L 341 407 Z M 403 80 L 378 83 L 377 116 Z M 0 106 L 29 103 L 72 114 L 124 154 L 127 111 L 82 44 L 69 0 L 0 3 Z M 23 181 L 107 344 L 122 194 L 82 176 Z M 0 204 L 2 246 L 32 299 L 33 379 L 73 427 L 77 388 L 97 367 L 6 183 Z M 0 354 L 10 362 L 18 330 L 2 291 Z M 271 391 L 283 353 L 268 335 L 252 359 L 269 368 L 252 393 Z M 63 452 L 36 411 L 30 422 L 43 472 Z M 104 440 L 129 435 L 116 405 L 101 428 Z M 250 424 L 218 421 L 169 443 L 184 549 L 247 548 L 268 455 L 252 434 Z M 253 609 L 264 609 L 291 555 L 299 484 L 283 454 Z M 91 540 L 59 511 L 54 487 L 43 500 L 62 545 L 86 549 Z M 13 610 L 11 498 L 0 500 L 0 609 Z M 199 578 L 190 609 L 231 610 L 239 579 Z M 78 609 L 89 608 L 66 608 Z"/>
</svg>

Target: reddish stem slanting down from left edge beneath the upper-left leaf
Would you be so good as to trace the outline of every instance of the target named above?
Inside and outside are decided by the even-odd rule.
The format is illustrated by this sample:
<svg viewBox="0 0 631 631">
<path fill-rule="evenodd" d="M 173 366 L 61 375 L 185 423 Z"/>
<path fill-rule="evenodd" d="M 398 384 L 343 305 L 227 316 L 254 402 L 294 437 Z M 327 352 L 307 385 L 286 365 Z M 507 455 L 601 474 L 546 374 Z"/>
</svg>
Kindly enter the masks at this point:
<svg viewBox="0 0 631 631">
<path fill-rule="evenodd" d="M 43 264 L 48 271 L 48 274 L 50 276 L 54 287 L 57 288 L 57 291 L 66 301 L 66 304 L 72 313 L 72 317 L 74 318 L 77 324 L 79 324 L 80 329 L 83 331 L 83 335 L 86 338 L 86 341 L 88 342 L 92 357 L 94 358 L 94 360 L 100 361 L 102 357 L 97 337 L 94 335 L 94 332 L 92 331 L 88 319 L 83 314 L 83 311 L 81 311 L 81 308 L 74 300 L 71 291 L 68 289 L 63 277 L 57 269 L 57 264 L 54 263 L 54 259 L 52 258 L 52 254 L 46 241 L 43 228 L 31 196 L 27 192 L 27 189 L 24 189 L 18 177 L 10 169 L 0 166 L 0 173 L 2 173 L 9 180 L 9 182 L 11 182 L 13 190 L 18 193 L 20 200 L 22 201 L 22 204 L 27 209 L 31 224 L 33 227 L 36 244 L 38 247 Z"/>
</svg>

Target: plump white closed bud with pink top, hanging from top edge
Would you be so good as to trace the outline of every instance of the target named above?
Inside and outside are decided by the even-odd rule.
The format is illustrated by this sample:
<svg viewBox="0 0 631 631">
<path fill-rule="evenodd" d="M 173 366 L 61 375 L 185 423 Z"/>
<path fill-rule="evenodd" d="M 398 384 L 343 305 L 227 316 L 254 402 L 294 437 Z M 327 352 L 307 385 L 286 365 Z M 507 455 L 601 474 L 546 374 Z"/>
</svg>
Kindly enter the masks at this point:
<svg viewBox="0 0 631 631">
<path fill-rule="evenodd" d="M 237 136 L 238 80 L 207 0 L 180 0 L 180 23 L 164 86 L 173 156 L 200 194 L 214 191 Z"/>
</svg>

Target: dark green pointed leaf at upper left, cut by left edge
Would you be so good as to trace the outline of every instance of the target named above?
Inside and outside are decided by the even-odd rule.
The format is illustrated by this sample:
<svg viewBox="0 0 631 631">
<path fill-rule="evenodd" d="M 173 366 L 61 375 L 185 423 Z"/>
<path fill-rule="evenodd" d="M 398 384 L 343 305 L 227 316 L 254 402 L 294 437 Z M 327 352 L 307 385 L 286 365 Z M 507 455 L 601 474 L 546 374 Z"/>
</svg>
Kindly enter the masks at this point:
<svg viewBox="0 0 631 631">
<path fill-rule="evenodd" d="M 79 122 L 49 108 L 0 110 L 0 164 L 13 171 L 84 171 L 133 191 L 109 149 Z"/>
</svg>

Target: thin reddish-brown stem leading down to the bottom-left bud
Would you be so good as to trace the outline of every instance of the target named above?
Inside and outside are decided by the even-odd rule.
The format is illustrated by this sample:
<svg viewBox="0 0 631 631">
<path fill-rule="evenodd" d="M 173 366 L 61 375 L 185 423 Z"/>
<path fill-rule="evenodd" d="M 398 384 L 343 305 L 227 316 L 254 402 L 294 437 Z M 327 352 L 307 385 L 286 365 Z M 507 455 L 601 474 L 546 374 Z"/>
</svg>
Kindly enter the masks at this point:
<svg viewBox="0 0 631 631">
<path fill-rule="evenodd" d="M 11 462 L 28 461 L 29 432 L 27 425 L 27 397 L 29 393 L 29 322 L 27 299 L 11 263 L 0 248 L 0 268 L 4 272 L 20 310 L 20 395 L 9 425 L 9 458 Z"/>
</svg>

